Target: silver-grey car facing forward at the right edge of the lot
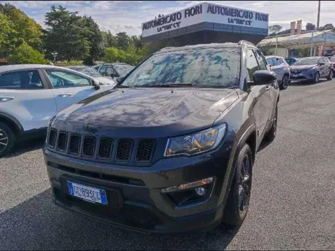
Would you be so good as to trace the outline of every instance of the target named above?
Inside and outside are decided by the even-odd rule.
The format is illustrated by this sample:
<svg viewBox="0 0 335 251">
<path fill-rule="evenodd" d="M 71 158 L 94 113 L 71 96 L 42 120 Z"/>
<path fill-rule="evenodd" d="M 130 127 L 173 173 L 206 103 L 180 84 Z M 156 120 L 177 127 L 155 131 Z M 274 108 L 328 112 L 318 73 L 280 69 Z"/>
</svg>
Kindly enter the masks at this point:
<svg viewBox="0 0 335 251">
<path fill-rule="evenodd" d="M 320 78 L 333 79 L 333 65 L 325 56 L 309 56 L 298 59 L 290 66 L 291 80 L 313 81 L 318 83 Z"/>
</svg>

